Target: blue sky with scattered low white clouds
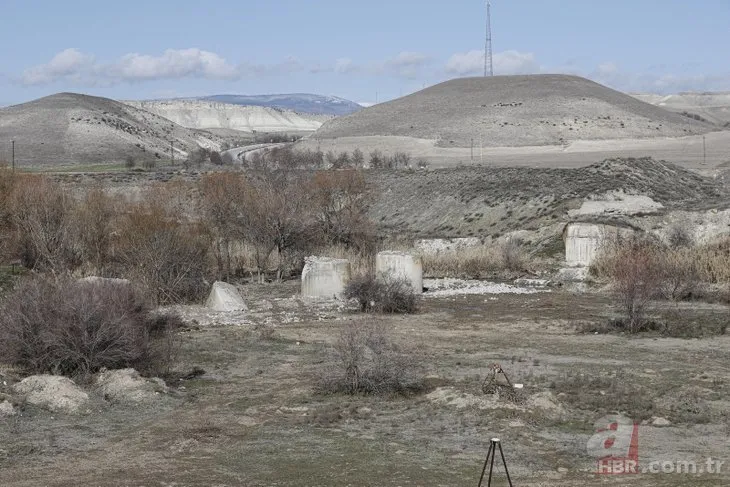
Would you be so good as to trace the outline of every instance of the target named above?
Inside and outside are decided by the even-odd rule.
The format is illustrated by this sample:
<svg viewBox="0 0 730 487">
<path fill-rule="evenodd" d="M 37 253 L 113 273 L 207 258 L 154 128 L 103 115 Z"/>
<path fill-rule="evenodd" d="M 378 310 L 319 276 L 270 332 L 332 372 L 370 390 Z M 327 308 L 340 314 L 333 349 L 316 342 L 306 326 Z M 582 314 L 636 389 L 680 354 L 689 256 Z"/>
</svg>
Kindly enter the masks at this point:
<svg viewBox="0 0 730 487">
<path fill-rule="evenodd" d="M 492 0 L 495 74 L 730 91 L 730 0 Z M 1 0 L 0 105 L 316 93 L 372 104 L 483 74 L 478 0 Z"/>
</svg>

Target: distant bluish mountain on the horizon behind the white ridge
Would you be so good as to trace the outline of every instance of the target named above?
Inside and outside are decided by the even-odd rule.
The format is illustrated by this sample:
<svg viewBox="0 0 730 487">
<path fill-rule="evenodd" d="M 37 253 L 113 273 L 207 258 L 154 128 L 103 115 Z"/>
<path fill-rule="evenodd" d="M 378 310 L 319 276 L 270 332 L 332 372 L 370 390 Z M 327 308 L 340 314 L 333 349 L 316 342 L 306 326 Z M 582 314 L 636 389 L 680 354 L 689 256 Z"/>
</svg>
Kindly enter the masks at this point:
<svg viewBox="0 0 730 487">
<path fill-rule="evenodd" d="M 336 96 L 311 95 L 306 93 L 284 95 L 213 95 L 198 99 L 219 103 L 232 103 L 234 105 L 278 108 L 314 115 L 335 115 L 338 117 L 362 110 L 362 107 L 354 101 L 345 100 Z"/>
</svg>

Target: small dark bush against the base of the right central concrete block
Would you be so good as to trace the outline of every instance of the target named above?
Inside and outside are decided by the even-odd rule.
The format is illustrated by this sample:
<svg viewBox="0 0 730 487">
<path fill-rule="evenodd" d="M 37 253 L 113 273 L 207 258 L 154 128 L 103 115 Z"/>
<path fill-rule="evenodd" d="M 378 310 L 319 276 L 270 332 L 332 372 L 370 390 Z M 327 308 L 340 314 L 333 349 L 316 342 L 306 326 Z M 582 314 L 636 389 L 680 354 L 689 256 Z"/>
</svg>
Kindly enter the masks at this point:
<svg viewBox="0 0 730 487">
<path fill-rule="evenodd" d="M 346 299 L 356 299 L 363 312 L 415 313 L 418 300 L 411 284 L 389 275 L 366 274 L 350 281 L 343 293 Z"/>
</svg>

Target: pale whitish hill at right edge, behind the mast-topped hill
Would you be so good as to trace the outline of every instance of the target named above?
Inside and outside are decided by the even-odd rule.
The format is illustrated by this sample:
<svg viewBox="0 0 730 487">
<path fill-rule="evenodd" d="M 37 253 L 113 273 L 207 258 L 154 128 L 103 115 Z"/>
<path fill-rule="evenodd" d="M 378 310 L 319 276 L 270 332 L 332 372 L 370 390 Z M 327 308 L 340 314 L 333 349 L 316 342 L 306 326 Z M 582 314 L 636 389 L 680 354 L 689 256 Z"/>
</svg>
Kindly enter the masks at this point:
<svg viewBox="0 0 730 487">
<path fill-rule="evenodd" d="M 730 127 L 730 92 L 719 93 L 677 93 L 655 95 L 632 93 L 631 96 L 658 107 L 699 117 L 716 125 Z"/>
</svg>

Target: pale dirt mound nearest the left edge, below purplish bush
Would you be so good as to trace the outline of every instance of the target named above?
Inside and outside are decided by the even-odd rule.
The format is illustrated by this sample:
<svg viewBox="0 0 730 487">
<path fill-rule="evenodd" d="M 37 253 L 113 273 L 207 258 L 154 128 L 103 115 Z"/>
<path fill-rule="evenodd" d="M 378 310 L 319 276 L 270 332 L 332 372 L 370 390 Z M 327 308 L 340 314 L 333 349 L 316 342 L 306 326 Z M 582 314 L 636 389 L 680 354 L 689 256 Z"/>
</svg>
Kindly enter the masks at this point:
<svg viewBox="0 0 730 487">
<path fill-rule="evenodd" d="M 71 379 L 58 375 L 31 375 L 13 386 L 28 404 L 52 412 L 76 413 L 89 400 Z"/>
</svg>

